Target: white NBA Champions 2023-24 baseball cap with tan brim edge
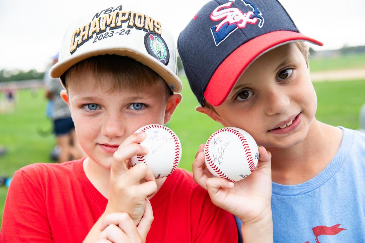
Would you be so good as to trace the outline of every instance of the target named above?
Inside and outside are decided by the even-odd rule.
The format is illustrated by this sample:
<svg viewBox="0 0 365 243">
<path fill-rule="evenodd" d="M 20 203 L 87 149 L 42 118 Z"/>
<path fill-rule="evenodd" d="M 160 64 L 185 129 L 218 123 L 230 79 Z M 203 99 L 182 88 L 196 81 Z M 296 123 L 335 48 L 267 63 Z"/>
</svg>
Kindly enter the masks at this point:
<svg viewBox="0 0 365 243">
<path fill-rule="evenodd" d="M 91 56 L 116 54 L 128 56 L 159 74 L 170 89 L 180 92 L 183 85 L 177 74 L 176 47 L 172 35 L 158 21 L 123 1 L 91 13 L 70 24 L 62 41 L 58 63 L 50 71 L 60 78 L 74 64 Z M 64 80 L 61 82 L 64 84 Z"/>
</svg>

